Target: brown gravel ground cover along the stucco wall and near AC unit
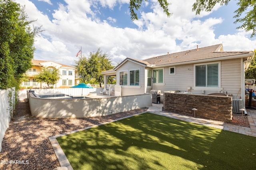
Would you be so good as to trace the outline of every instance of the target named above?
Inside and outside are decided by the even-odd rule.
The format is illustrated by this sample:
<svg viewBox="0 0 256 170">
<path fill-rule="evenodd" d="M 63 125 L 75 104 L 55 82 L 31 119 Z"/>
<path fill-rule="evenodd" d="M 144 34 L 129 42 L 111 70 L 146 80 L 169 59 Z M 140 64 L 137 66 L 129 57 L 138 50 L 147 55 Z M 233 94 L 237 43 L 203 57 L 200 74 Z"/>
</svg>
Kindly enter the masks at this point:
<svg viewBox="0 0 256 170">
<path fill-rule="evenodd" d="M 28 103 L 19 102 L 2 141 L 0 169 L 52 170 L 60 164 L 48 137 L 126 117 L 147 109 L 144 107 L 100 117 L 45 119 L 32 117 Z M 234 114 L 232 124 L 248 127 L 249 122 L 247 116 Z"/>
</svg>

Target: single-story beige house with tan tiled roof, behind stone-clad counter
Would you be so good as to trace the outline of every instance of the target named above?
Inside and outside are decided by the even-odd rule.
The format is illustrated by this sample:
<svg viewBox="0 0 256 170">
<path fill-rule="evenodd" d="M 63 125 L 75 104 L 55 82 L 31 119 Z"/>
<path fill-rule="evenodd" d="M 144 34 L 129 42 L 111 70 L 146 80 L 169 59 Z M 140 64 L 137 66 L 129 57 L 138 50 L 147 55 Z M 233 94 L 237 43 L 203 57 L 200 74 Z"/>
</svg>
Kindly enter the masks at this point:
<svg viewBox="0 0 256 170">
<path fill-rule="evenodd" d="M 167 53 L 143 61 L 126 58 L 113 70 L 121 96 L 144 94 L 150 90 L 224 93 L 244 100 L 244 74 L 254 57 L 253 51 L 223 51 L 222 44 Z M 117 96 L 117 95 L 116 95 Z"/>
</svg>

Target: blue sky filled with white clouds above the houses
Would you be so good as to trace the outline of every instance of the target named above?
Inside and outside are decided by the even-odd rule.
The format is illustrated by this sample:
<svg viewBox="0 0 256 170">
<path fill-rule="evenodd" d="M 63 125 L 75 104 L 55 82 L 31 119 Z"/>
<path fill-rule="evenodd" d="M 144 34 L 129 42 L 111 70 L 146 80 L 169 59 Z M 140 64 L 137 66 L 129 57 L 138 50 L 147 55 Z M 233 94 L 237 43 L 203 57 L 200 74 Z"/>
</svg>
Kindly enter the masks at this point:
<svg viewBox="0 0 256 170">
<path fill-rule="evenodd" d="M 34 59 L 74 66 L 82 47 L 88 57 L 99 48 L 112 65 L 130 57 L 151 57 L 223 44 L 224 51 L 254 51 L 256 38 L 236 29 L 237 0 L 216 5 L 212 12 L 192 12 L 195 0 L 169 0 L 169 18 L 157 0 L 142 3 L 132 21 L 130 0 L 16 0 L 28 20 L 44 30 L 35 37 Z"/>
</svg>

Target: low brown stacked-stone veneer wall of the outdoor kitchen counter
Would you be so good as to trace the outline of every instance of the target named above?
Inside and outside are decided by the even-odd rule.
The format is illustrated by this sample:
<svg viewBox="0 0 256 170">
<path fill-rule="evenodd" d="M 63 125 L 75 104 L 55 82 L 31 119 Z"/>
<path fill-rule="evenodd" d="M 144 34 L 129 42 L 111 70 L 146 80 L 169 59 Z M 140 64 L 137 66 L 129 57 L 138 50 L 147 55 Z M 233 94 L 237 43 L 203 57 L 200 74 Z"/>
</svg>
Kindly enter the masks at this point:
<svg viewBox="0 0 256 170">
<path fill-rule="evenodd" d="M 217 121 L 232 121 L 232 97 L 164 93 L 164 111 L 183 113 Z"/>
</svg>

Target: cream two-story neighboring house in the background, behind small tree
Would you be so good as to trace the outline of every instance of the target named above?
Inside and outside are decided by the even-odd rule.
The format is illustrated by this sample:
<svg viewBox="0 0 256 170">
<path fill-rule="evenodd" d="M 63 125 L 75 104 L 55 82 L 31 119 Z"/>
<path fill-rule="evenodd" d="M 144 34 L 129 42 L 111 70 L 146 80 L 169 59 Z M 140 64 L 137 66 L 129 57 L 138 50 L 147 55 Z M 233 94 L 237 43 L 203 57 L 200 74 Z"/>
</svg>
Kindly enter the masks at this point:
<svg viewBox="0 0 256 170">
<path fill-rule="evenodd" d="M 75 67 L 65 64 L 56 63 L 54 61 L 32 60 L 32 68 L 26 72 L 28 80 L 22 83 L 27 88 L 49 88 L 47 84 L 37 82 L 34 76 L 42 71 L 42 68 L 59 69 L 60 80 L 56 84 L 51 84 L 54 88 L 68 88 L 76 85 Z"/>
</svg>

